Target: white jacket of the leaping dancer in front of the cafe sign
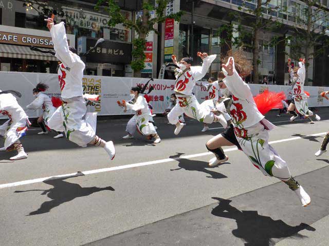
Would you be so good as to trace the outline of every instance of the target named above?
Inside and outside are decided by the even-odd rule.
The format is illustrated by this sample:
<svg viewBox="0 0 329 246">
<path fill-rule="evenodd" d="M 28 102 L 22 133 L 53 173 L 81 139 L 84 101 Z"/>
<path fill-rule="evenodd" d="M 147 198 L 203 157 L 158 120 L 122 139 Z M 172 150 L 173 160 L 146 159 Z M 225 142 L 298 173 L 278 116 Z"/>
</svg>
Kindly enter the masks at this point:
<svg viewBox="0 0 329 246">
<path fill-rule="evenodd" d="M 64 23 L 54 25 L 50 29 L 56 57 L 62 62 L 58 69 L 58 78 L 62 98 L 83 95 L 82 77 L 85 65 L 77 54 L 68 49 Z"/>
</svg>

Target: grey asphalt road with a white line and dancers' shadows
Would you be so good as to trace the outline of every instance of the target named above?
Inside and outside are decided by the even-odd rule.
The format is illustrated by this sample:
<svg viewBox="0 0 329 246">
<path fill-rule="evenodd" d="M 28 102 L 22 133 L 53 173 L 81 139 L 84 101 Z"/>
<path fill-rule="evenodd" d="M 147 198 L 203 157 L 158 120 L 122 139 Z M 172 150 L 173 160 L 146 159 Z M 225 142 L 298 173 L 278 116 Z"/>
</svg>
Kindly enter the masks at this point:
<svg viewBox="0 0 329 246">
<path fill-rule="evenodd" d="M 329 245 L 328 154 L 314 156 L 329 109 L 318 114 L 314 125 L 267 115 L 278 126 L 272 146 L 312 198 L 307 208 L 232 147 L 227 163 L 208 168 L 205 143 L 219 124 L 202 133 L 188 120 L 175 136 L 158 117 L 162 141 L 153 145 L 121 139 L 127 118 L 100 120 L 98 135 L 115 141 L 113 161 L 32 129 L 22 139 L 28 159 L 0 152 L 0 245 Z"/>
</svg>

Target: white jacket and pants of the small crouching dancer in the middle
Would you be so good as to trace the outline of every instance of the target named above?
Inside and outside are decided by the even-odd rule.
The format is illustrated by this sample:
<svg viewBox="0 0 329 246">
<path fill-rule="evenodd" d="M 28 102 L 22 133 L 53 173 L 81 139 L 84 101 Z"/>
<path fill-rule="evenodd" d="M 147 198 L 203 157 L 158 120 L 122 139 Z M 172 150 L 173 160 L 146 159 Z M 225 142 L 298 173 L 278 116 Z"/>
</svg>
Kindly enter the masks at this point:
<svg viewBox="0 0 329 246">
<path fill-rule="evenodd" d="M 133 135 L 137 131 L 142 135 L 156 134 L 152 123 L 153 117 L 148 102 L 142 95 L 138 95 L 136 103 L 126 103 L 127 109 L 136 111 L 136 114 L 128 121 L 126 132 Z"/>
</svg>

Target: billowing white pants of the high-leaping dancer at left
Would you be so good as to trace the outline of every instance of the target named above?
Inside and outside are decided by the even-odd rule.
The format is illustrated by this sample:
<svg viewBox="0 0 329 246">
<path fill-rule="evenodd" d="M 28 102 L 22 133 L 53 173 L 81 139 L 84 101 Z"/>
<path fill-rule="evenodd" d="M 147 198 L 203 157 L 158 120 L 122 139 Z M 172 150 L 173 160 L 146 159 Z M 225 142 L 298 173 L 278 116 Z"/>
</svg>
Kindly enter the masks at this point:
<svg viewBox="0 0 329 246">
<path fill-rule="evenodd" d="M 97 124 L 97 113 L 86 112 L 86 102 L 82 96 L 63 98 L 62 107 L 48 120 L 48 127 L 64 131 L 68 140 L 86 147 L 95 138 Z"/>
</svg>

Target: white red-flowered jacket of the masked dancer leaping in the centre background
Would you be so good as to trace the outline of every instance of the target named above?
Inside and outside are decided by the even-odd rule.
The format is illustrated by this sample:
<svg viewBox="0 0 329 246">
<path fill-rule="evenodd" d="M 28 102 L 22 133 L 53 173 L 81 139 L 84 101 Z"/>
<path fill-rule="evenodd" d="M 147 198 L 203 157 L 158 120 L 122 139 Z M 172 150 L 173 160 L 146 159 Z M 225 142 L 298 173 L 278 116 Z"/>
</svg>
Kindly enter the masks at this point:
<svg viewBox="0 0 329 246">
<path fill-rule="evenodd" d="M 180 72 L 176 76 L 175 92 L 187 96 L 192 95 L 192 90 L 196 81 L 202 79 L 206 75 L 216 56 L 217 55 L 209 55 L 203 59 L 202 66 L 190 67 L 190 70 L 184 73 Z"/>
</svg>

